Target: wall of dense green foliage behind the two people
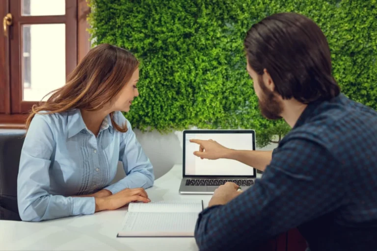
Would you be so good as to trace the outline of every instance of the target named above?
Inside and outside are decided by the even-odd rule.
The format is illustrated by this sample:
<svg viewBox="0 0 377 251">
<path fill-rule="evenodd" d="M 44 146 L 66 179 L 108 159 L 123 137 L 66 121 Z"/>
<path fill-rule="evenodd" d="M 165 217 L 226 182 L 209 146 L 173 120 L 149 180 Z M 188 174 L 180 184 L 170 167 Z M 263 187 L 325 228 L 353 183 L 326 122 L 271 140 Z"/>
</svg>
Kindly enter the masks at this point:
<svg viewBox="0 0 377 251">
<path fill-rule="evenodd" d="M 140 60 L 140 96 L 126 117 L 141 130 L 252 128 L 258 146 L 284 136 L 258 109 L 243 39 L 276 12 L 313 19 L 327 36 L 333 74 L 351 99 L 377 108 L 376 0 L 89 0 L 95 44 Z"/>
</svg>

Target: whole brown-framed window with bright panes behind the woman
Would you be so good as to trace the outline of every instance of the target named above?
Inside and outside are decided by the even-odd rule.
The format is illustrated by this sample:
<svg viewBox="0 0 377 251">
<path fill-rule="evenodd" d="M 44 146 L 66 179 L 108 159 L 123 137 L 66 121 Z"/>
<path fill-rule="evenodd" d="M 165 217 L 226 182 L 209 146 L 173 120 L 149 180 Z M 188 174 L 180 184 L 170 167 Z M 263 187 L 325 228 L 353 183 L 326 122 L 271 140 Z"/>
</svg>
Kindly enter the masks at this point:
<svg viewBox="0 0 377 251">
<path fill-rule="evenodd" d="M 0 0 L 12 19 L 1 29 L 0 124 L 23 124 L 33 104 L 65 84 L 90 47 L 88 12 L 85 0 Z"/>
</svg>

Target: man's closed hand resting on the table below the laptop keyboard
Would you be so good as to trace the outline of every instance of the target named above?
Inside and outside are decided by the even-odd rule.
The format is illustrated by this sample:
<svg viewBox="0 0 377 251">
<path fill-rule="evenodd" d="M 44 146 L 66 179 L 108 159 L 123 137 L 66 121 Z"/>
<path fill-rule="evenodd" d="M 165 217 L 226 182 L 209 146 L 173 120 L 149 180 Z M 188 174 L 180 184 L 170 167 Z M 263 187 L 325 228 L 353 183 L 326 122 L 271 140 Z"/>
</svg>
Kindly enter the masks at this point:
<svg viewBox="0 0 377 251">
<path fill-rule="evenodd" d="M 224 205 L 233 200 L 242 193 L 241 191 L 237 191 L 239 187 L 239 185 L 233 182 L 226 182 L 224 185 L 219 186 L 215 190 L 211 201 L 208 203 L 208 206 Z"/>
</svg>

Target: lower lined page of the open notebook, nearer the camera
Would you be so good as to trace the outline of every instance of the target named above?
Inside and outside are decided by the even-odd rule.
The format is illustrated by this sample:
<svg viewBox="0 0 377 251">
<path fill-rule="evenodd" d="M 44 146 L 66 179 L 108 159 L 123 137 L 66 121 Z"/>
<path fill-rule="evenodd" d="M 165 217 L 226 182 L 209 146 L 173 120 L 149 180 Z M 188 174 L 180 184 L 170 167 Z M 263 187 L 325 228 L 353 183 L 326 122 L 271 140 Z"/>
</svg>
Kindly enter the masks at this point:
<svg viewBox="0 0 377 251">
<path fill-rule="evenodd" d="M 127 212 L 118 236 L 194 236 L 198 213 Z"/>
</svg>

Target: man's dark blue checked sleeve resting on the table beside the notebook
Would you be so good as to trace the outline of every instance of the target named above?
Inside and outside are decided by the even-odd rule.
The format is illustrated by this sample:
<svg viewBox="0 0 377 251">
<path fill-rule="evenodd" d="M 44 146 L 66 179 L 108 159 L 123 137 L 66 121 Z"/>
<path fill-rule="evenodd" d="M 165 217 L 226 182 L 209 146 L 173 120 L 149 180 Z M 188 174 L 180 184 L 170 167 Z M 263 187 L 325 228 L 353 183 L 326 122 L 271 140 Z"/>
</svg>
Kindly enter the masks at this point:
<svg viewBox="0 0 377 251">
<path fill-rule="evenodd" d="M 320 142 L 305 137 L 286 141 L 254 186 L 199 214 L 195 239 L 200 250 L 259 245 L 333 211 L 345 191 L 339 166 Z"/>
</svg>

